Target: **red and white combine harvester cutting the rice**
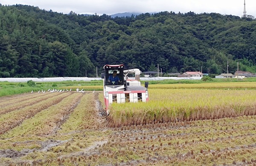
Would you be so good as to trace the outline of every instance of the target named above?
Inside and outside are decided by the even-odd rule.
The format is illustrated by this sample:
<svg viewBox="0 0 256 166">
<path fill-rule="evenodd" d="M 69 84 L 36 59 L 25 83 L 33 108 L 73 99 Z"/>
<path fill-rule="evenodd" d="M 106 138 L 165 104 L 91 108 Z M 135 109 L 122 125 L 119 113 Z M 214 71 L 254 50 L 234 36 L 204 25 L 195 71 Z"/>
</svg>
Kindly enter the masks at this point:
<svg viewBox="0 0 256 166">
<path fill-rule="evenodd" d="M 103 92 L 105 101 L 105 110 L 109 114 L 109 105 L 113 102 L 146 102 L 148 101 L 148 82 L 145 82 L 145 87 L 140 85 L 139 69 L 124 70 L 124 65 L 105 65 L 103 67 L 104 73 L 101 78 L 103 79 Z M 119 78 L 111 79 L 113 73 Z M 128 79 L 129 73 L 135 73 L 135 80 Z M 109 81 L 112 80 L 112 81 Z M 113 81 L 115 80 L 115 81 Z"/>
</svg>

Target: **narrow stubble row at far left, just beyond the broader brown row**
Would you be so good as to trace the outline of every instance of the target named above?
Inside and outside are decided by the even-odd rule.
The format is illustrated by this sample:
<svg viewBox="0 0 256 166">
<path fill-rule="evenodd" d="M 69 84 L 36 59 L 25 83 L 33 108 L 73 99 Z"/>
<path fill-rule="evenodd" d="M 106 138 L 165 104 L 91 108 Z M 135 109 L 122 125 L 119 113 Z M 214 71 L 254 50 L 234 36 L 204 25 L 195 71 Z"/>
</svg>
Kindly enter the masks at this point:
<svg viewBox="0 0 256 166">
<path fill-rule="evenodd" d="M 14 110 L 19 110 L 21 108 L 31 106 L 33 104 L 36 104 L 36 103 L 40 102 L 40 101 L 44 101 L 44 100 L 47 100 L 48 98 L 51 98 L 51 97 L 54 97 L 54 96 L 58 96 L 58 95 L 61 95 L 61 93 L 45 94 L 44 96 L 37 96 L 36 98 L 29 98 L 29 99 L 17 102 L 17 103 L 15 103 L 15 104 L 13 104 L 13 105 L 11 105 L 9 107 L 8 106 L 3 107 L 0 110 L 0 116 L 5 114 L 5 113 L 12 112 Z M 31 99 L 33 99 L 33 100 L 29 101 Z"/>
</svg>

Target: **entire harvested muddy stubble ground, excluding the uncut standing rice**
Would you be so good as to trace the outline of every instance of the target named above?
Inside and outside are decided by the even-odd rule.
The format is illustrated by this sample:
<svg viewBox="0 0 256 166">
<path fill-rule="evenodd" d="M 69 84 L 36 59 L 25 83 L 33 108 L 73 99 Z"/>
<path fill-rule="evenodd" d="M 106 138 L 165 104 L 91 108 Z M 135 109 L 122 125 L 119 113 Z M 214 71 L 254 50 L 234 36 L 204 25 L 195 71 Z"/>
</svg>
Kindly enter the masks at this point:
<svg viewBox="0 0 256 166">
<path fill-rule="evenodd" d="M 0 98 L 0 165 L 255 165 L 256 116 L 110 127 L 102 92 Z"/>
</svg>

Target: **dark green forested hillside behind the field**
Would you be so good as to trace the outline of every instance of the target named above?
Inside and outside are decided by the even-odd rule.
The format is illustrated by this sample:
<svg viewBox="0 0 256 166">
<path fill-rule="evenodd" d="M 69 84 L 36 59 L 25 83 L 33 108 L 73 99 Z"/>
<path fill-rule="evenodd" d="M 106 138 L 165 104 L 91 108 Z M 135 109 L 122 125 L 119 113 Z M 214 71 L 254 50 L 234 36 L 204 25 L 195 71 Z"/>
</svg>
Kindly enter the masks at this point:
<svg viewBox="0 0 256 166">
<path fill-rule="evenodd" d="M 256 20 L 216 13 L 136 17 L 0 5 L 0 77 L 96 76 L 105 64 L 166 72 L 256 73 Z"/>
</svg>

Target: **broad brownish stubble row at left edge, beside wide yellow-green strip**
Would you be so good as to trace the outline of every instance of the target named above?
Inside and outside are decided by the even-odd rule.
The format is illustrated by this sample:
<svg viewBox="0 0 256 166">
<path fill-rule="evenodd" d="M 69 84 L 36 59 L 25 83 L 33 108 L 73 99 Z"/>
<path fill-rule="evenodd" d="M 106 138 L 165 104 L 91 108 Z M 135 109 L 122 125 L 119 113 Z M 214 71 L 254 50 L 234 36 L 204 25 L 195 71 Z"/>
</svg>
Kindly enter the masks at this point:
<svg viewBox="0 0 256 166">
<path fill-rule="evenodd" d="M 61 100 L 63 100 L 68 96 L 70 96 L 69 93 L 64 93 L 64 94 L 61 94 L 60 96 L 53 96 L 51 98 L 48 98 L 45 101 L 41 101 L 37 104 L 33 104 L 32 106 L 25 107 L 18 111 L 12 111 L 10 113 L 4 114 L 6 117 L 3 117 L 4 115 L 0 116 L 0 120 L 2 119 L 2 121 L 0 121 L 0 135 L 4 134 L 5 132 L 8 132 L 14 127 L 19 126 L 20 124 L 22 124 L 22 122 L 25 119 L 29 119 L 33 117 L 35 114 L 41 112 L 42 110 L 54 104 L 59 103 Z"/>
</svg>

